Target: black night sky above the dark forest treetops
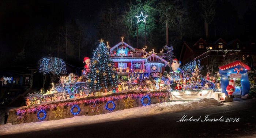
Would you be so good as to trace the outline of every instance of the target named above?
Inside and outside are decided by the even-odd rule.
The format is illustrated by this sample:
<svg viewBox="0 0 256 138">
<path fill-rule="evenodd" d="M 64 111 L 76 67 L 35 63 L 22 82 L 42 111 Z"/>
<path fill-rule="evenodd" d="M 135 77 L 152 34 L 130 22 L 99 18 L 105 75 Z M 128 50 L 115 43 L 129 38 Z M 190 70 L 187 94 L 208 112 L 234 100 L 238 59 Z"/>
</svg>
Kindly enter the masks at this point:
<svg viewBox="0 0 256 138">
<path fill-rule="evenodd" d="M 126 2 L 125 0 L 119 0 Z M 17 42 L 41 27 L 58 27 L 71 20 L 84 28 L 87 37 L 95 37 L 104 0 L 0 0 L 0 47 L 2 51 L 17 53 Z M 255 0 L 231 0 L 238 16 L 243 17 L 248 9 L 254 10 Z M 183 0 L 184 7 L 187 0 Z M 120 15 L 121 16 L 121 15 Z M 254 18 L 254 17 L 252 17 Z M 97 38 L 96 38 L 97 39 Z M 17 50 L 18 49 L 18 50 Z"/>
</svg>

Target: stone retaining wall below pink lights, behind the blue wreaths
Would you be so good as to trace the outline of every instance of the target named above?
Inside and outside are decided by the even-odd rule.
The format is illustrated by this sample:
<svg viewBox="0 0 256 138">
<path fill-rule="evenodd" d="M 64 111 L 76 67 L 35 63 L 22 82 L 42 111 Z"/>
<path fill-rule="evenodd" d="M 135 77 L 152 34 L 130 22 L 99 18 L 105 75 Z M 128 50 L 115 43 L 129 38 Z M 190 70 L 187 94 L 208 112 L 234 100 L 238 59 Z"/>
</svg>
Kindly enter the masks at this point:
<svg viewBox="0 0 256 138">
<path fill-rule="evenodd" d="M 166 98 L 167 97 L 161 97 L 161 98 L 150 97 L 151 99 L 150 104 L 159 103 L 159 101 L 160 102 L 166 101 Z M 132 102 L 131 105 L 128 106 L 128 104 L 125 104 L 125 102 L 129 103 L 132 100 L 134 101 Z M 148 103 L 147 98 L 145 98 L 143 101 L 146 104 Z M 73 105 L 66 105 L 66 106 L 63 105 L 63 106 L 45 109 L 46 117 L 45 119 L 42 119 L 42 120 L 38 119 L 38 116 L 37 116 L 38 110 L 34 111 L 33 113 L 26 112 L 20 118 L 18 118 L 18 116 L 16 115 L 17 111 L 15 110 L 15 111 L 9 112 L 7 123 L 19 124 L 19 123 L 25 123 L 25 122 L 40 122 L 40 121 L 49 121 L 49 120 L 56 120 L 56 119 L 63 119 L 63 118 L 72 118 L 74 116 L 80 116 L 80 115 L 98 115 L 98 114 L 111 113 L 113 111 L 118 111 L 118 110 L 124 110 L 131 107 L 143 106 L 141 102 L 141 98 L 131 98 L 130 101 L 127 101 L 127 99 L 120 99 L 113 102 L 115 103 L 116 106 L 115 106 L 115 109 L 112 111 L 109 111 L 106 109 L 106 102 L 96 103 L 94 107 L 93 107 L 93 104 L 90 104 L 90 105 L 78 104 L 78 106 L 80 107 L 80 112 L 77 115 L 73 115 L 71 113 L 71 108 Z M 97 107 L 98 107 L 98 110 L 97 110 Z M 109 103 L 108 108 L 112 108 L 112 107 L 113 107 L 113 104 Z M 93 113 L 93 110 L 94 110 L 94 113 Z M 73 112 L 77 112 L 77 111 L 78 111 L 78 108 L 74 107 Z M 44 113 L 39 113 L 40 118 L 42 118 L 43 116 L 44 116 Z"/>
</svg>

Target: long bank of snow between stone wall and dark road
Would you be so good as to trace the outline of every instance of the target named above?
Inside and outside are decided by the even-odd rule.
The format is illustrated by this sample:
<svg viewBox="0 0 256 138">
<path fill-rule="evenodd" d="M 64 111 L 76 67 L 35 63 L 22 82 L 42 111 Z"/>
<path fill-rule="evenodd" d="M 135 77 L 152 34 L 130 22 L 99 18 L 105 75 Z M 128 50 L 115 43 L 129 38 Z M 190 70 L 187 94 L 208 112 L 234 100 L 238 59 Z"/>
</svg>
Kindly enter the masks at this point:
<svg viewBox="0 0 256 138">
<path fill-rule="evenodd" d="M 223 103 L 215 100 L 214 98 L 201 99 L 201 100 L 191 101 L 191 102 L 184 102 L 184 101 L 164 102 L 164 103 L 157 103 L 154 105 L 133 107 L 130 109 L 114 111 L 108 114 L 88 115 L 88 116 L 83 115 L 83 116 L 75 116 L 72 118 L 65 118 L 65 119 L 59 119 L 59 120 L 21 123 L 18 125 L 12 125 L 11 123 L 7 123 L 5 125 L 0 125 L 0 135 L 22 133 L 22 132 L 29 132 L 29 131 L 38 131 L 38 130 L 49 130 L 49 129 L 54 129 L 58 127 L 70 127 L 75 125 L 109 122 L 109 121 L 116 121 L 116 120 L 136 118 L 136 117 L 145 117 L 149 115 L 161 114 L 166 112 L 193 110 L 199 107 L 211 106 L 211 105 L 218 106 L 218 105 L 223 105 Z"/>
</svg>

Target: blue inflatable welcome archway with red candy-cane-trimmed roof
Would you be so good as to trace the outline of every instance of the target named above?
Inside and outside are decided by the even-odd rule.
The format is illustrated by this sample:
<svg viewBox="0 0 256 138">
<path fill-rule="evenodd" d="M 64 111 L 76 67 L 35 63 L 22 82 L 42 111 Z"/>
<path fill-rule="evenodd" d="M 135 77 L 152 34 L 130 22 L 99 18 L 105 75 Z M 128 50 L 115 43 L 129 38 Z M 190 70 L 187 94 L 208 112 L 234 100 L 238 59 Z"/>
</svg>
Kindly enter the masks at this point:
<svg viewBox="0 0 256 138">
<path fill-rule="evenodd" d="M 247 71 L 251 70 L 249 66 L 245 65 L 241 61 L 235 61 L 233 63 L 220 66 L 219 74 L 221 76 L 221 91 L 225 92 L 227 96 L 228 93 L 226 91 L 227 85 L 229 85 L 229 77 L 230 78 L 240 78 L 241 80 L 241 94 L 245 96 L 245 94 L 249 93 L 250 84 L 249 77 Z"/>
</svg>

